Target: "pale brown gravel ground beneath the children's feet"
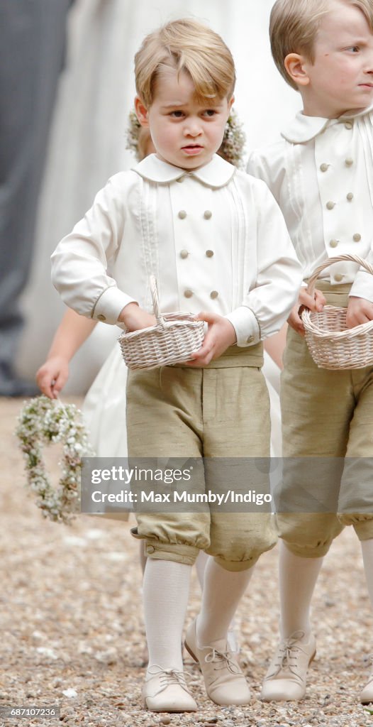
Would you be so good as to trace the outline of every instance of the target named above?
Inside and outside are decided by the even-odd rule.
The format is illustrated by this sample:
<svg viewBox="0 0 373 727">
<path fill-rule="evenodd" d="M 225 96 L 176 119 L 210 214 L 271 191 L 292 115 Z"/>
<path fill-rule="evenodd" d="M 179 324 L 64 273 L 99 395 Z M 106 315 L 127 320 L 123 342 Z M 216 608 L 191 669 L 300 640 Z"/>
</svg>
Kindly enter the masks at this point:
<svg viewBox="0 0 373 727">
<path fill-rule="evenodd" d="M 250 706 L 216 707 L 206 699 L 200 673 L 186 657 L 200 707 L 197 715 L 142 710 L 144 626 L 137 544 L 126 523 L 81 516 L 67 527 L 42 518 L 24 489 L 13 435 L 21 404 L 0 401 L 0 707 L 59 705 L 61 716 L 0 717 L 0 726 L 373 725 L 373 716 L 358 703 L 373 638 L 360 549 L 351 529 L 337 539 L 321 571 L 313 603 L 318 654 L 303 702 L 276 706 L 258 699 L 276 643 L 275 549 L 261 558 L 239 608 Z M 57 473 L 57 453 L 51 451 L 50 458 L 51 472 Z M 199 600 L 193 574 L 188 622 Z"/>
</svg>

